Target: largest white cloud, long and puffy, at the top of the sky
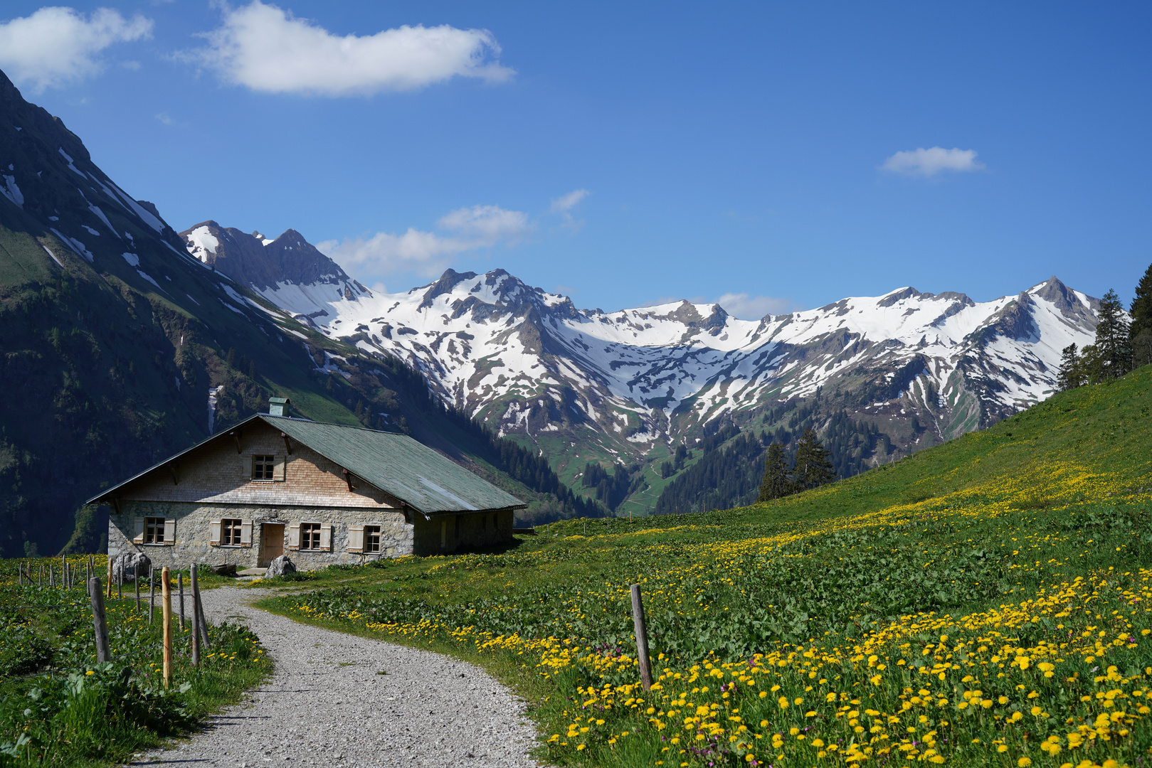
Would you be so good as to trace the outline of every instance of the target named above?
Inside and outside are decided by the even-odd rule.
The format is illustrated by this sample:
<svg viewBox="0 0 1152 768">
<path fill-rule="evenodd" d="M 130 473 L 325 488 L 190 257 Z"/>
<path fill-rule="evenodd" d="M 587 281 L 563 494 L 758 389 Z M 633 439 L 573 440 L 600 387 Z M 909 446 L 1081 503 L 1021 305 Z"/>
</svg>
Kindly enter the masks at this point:
<svg viewBox="0 0 1152 768">
<path fill-rule="evenodd" d="M 184 59 L 268 93 L 366 96 L 455 76 L 500 82 L 513 75 L 497 61 L 500 46 L 487 30 L 404 25 L 341 37 L 260 0 L 226 9 L 221 26 L 204 37 L 209 47 Z"/>
</svg>

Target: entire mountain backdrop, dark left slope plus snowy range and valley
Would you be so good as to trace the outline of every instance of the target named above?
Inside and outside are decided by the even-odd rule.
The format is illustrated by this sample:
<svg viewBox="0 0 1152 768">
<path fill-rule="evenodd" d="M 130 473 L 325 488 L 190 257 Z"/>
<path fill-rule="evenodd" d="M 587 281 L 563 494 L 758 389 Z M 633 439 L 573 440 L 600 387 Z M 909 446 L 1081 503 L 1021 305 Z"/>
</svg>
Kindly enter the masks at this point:
<svg viewBox="0 0 1152 768">
<path fill-rule="evenodd" d="M 727 508 L 809 426 L 847 477 L 1043 400 L 1098 306 L 1055 277 L 758 320 L 581 310 L 502 269 L 378 294 L 294 230 L 177 234 L 2 73 L 0 195 L 6 556 L 97 548 L 85 499 L 270 396 L 406 431 L 532 522 Z"/>
</svg>

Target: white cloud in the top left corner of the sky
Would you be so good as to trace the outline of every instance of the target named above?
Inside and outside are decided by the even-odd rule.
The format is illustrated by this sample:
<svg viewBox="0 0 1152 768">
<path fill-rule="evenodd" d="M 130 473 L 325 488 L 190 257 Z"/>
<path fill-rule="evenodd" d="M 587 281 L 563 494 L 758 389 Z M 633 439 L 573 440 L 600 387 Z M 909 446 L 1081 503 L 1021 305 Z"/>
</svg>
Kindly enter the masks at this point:
<svg viewBox="0 0 1152 768">
<path fill-rule="evenodd" d="M 98 54 L 105 48 L 151 36 L 152 20 L 141 15 L 124 18 L 119 10 L 97 8 L 85 17 L 74 8 L 40 8 L 0 22 L 0 69 L 40 93 L 99 73 Z"/>
</svg>

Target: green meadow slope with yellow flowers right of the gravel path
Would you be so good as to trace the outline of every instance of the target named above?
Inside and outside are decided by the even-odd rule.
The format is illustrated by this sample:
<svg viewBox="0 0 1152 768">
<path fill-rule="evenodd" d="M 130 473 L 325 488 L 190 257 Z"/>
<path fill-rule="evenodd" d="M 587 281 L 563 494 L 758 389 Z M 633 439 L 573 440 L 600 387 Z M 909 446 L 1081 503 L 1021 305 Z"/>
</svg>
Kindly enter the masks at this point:
<svg viewBox="0 0 1152 768">
<path fill-rule="evenodd" d="M 506 552 L 329 569 L 270 604 L 488 666 L 559 763 L 1136 766 L 1150 409 L 1145 366 L 772 504 L 566 522 Z"/>
</svg>

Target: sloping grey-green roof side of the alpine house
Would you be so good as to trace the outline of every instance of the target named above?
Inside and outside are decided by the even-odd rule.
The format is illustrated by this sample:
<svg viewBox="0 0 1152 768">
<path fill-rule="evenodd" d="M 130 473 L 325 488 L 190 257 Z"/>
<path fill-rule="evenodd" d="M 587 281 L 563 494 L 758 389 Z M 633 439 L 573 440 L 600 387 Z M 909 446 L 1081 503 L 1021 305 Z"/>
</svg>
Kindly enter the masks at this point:
<svg viewBox="0 0 1152 768">
<path fill-rule="evenodd" d="M 526 505 L 408 435 L 283 416 L 256 418 L 426 515 Z"/>
</svg>

